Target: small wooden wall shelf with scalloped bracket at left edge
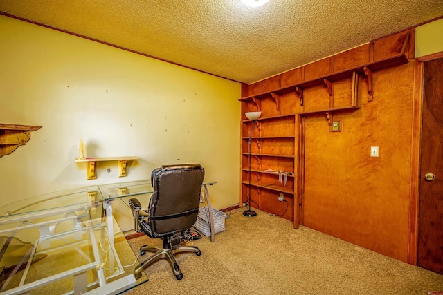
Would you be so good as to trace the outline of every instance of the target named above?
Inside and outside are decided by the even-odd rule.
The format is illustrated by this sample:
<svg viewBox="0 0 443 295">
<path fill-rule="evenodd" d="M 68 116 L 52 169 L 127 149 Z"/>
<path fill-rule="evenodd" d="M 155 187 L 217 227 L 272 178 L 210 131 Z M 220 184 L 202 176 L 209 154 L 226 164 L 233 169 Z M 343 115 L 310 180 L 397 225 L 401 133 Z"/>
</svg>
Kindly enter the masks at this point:
<svg viewBox="0 0 443 295">
<path fill-rule="evenodd" d="M 0 124 L 0 158 L 9 155 L 30 140 L 30 132 L 42 126 Z"/>
</svg>

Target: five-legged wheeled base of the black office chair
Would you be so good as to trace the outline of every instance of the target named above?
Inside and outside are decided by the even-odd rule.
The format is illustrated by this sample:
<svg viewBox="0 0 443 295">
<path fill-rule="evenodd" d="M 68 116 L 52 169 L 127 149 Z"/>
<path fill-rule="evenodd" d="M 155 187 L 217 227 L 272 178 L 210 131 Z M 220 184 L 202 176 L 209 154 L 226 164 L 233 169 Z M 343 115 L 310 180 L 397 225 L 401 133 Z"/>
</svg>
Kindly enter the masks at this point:
<svg viewBox="0 0 443 295">
<path fill-rule="evenodd" d="M 168 260 L 169 264 L 172 267 L 172 272 L 174 272 L 175 278 L 177 280 L 181 280 L 183 278 L 183 274 L 180 271 L 180 267 L 177 264 L 177 260 L 174 258 L 174 254 L 181 253 L 181 252 L 193 252 L 197 256 L 201 255 L 201 251 L 198 247 L 195 246 L 188 246 L 188 247 L 178 247 L 177 249 L 172 250 L 172 248 L 168 245 L 167 247 L 163 247 L 163 249 L 159 247 L 152 247 L 148 245 L 144 245 L 140 247 L 140 255 L 145 255 L 146 251 L 154 252 L 150 258 L 147 258 L 147 260 L 143 261 L 140 265 L 134 269 L 134 276 L 136 278 L 141 277 L 141 272 L 143 272 L 143 269 L 146 269 L 148 266 L 152 265 L 152 263 L 156 262 L 157 260 L 161 258 L 165 258 Z"/>
</svg>

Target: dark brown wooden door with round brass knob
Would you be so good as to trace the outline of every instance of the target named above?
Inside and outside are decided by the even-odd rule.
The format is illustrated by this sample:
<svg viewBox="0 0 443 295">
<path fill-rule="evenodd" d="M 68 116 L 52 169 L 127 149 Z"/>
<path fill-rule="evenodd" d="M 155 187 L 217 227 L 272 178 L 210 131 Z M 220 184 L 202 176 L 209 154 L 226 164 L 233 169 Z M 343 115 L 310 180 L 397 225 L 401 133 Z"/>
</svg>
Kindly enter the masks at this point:
<svg viewBox="0 0 443 295">
<path fill-rule="evenodd" d="M 424 64 L 420 174 L 417 263 L 443 274 L 443 59 Z"/>
</svg>

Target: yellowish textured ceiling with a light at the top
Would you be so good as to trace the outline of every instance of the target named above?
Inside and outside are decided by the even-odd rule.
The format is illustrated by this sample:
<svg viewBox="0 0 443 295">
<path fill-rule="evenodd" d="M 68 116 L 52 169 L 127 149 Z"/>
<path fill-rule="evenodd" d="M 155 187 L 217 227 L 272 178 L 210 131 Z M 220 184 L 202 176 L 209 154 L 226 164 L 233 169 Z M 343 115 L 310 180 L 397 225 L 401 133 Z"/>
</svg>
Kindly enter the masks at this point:
<svg viewBox="0 0 443 295">
<path fill-rule="evenodd" d="M 443 15 L 443 0 L 0 0 L 0 12 L 251 83 Z"/>
</svg>

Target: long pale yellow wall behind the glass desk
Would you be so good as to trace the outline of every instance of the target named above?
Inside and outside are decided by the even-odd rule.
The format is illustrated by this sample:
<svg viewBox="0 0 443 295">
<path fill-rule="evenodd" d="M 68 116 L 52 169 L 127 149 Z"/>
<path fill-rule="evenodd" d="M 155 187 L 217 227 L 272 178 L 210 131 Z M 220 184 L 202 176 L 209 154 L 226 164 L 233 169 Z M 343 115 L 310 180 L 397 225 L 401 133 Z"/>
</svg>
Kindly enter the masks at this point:
<svg viewBox="0 0 443 295">
<path fill-rule="evenodd" d="M 0 123 L 43 126 L 0 158 L 0 206 L 186 162 L 218 182 L 213 207 L 238 203 L 239 83 L 1 15 L 0 40 Z M 140 160 L 86 180 L 80 139 L 89 157 Z"/>
</svg>

